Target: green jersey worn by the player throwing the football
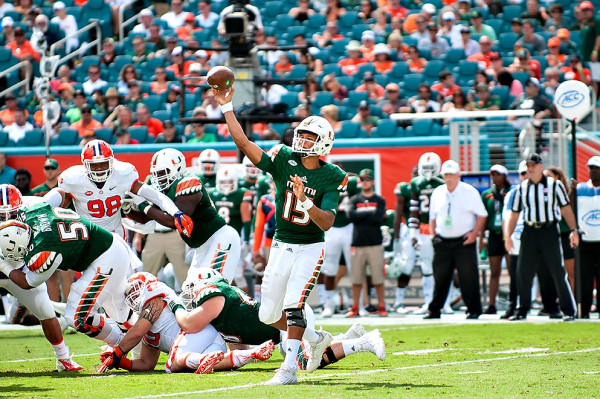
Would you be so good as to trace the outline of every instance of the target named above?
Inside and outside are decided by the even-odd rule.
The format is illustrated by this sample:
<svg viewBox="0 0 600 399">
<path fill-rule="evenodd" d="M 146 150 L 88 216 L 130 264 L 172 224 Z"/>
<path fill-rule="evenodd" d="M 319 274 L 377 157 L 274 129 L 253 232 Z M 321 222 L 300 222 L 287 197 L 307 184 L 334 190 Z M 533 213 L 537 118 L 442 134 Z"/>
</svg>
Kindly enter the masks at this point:
<svg viewBox="0 0 600 399">
<path fill-rule="evenodd" d="M 279 144 L 263 153 L 258 166 L 270 173 L 275 181 L 275 239 L 289 244 L 312 244 L 324 241 L 323 230 L 300 207 L 294 195 L 292 176 L 304 183 L 304 193 L 315 206 L 337 214 L 340 193 L 346 190 L 346 172 L 330 163 L 319 161 L 318 169 L 306 169 L 299 155 Z"/>
</svg>

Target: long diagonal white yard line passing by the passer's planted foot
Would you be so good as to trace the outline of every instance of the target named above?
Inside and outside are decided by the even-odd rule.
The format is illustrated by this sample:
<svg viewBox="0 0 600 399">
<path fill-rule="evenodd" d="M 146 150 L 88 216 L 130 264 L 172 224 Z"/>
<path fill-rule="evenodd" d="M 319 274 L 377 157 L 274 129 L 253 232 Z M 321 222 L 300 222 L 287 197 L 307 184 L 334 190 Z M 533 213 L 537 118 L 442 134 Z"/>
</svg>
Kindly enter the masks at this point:
<svg viewBox="0 0 600 399">
<path fill-rule="evenodd" d="M 526 357 L 545 357 L 545 356 L 557 356 L 557 355 L 572 355 L 575 353 L 587 353 L 587 352 L 597 352 L 600 351 L 600 348 L 588 348 L 581 349 L 576 351 L 564 351 L 564 352 L 551 352 L 551 353 L 530 353 L 524 355 L 515 355 L 515 356 L 504 356 L 504 357 L 496 357 L 496 358 L 488 358 L 488 359 L 476 359 L 476 360 L 464 360 L 457 362 L 447 362 L 447 363 L 432 363 L 432 364 L 421 364 L 415 366 L 404 366 L 404 367 L 396 367 L 391 369 L 375 369 L 375 370 L 365 370 L 365 371 L 356 371 L 352 373 L 329 373 L 329 374 L 316 374 L 307 377 L 301 377 L 298 379 L 298 382 L 303 382 L 307 380 L 316 380 L 316 379 L 324 379 L 329 377 L 340 377 L 340 376 L 356 376 L 356 375 L 365 375 L 365 374 L 375 374 L 389 371 L 398 371 L 398 370 L 411 370 L 411 369 L 423 369 L 429 367 L 441 367 L 441 366 L 455 366 L 460 364 L 470 364 L 470 363 L 485 363 L 485 362 L 497 362 L 502 360 L 512 360 Z M 188 391 L 188 392 L 177 392 L 177 393 L 167 393 L 167 394 L 159 394 L 159 395 L 147 395 L 147 396 L 134 396 L 126 399 L 145 399 L 145 398 L 167 398 L 172 396 L 184 396 L 184 395 L 200 395 L 211 392 L 221 392 L 221 391 L 229 391 L 236 389 L 244 389 L 244 388 L 253 388 L 263 386 L 263 383 L 254 383 L 254 384 L 244 384 L 244 385 L 234 385 L 231 387 L 222 387 L 222 388 L 211 388 L 204 389 L 201 391 Z"/>
</svg>

